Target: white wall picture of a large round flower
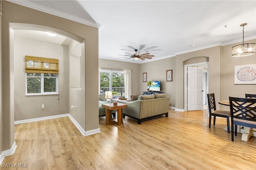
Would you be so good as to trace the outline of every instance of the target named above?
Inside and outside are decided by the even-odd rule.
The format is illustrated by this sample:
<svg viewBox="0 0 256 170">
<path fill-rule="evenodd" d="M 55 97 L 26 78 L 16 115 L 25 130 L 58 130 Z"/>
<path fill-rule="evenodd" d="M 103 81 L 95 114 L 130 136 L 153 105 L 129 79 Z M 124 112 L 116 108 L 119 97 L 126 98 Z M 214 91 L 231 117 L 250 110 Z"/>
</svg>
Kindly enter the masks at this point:
<svg viewBox="0 0 256 170">
<path fill-rule="evenodd" d="M 256 84 L 256 64 L 235 65 L 234 84 Z"/>
</svg>

